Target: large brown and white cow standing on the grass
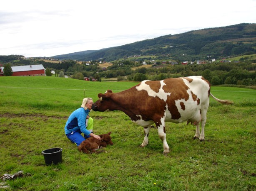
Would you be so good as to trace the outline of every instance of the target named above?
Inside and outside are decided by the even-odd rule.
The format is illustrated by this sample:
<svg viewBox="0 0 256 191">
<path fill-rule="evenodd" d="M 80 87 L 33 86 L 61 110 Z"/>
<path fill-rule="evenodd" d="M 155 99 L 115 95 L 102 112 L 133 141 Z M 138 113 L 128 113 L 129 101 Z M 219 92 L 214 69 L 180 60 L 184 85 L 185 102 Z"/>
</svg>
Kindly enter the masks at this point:
<svg viewBox="0 0 256 191">
<path fill-rule="evenodd" d="M 101 112 L 123 111 L 133 122 L 144 128 L 145 136 L 141 147 L 148 144 L 149 130 L 155 123 L 158 136 L 163 141 L 163 153 L 168 153 L 165 122 L 191 122 L 196 125 L 194 139 L 203 141 L 209 96 L 222 104 L 233 103 L 214 97 L 210 89 L 209 81 L 202 76 L 167 78 L 161 81 L 145 80 L 119 93 L 113 93 L 111 90 L 104 94 L 99 93 L 99 99 L 92 109 Z"/>
</svg>

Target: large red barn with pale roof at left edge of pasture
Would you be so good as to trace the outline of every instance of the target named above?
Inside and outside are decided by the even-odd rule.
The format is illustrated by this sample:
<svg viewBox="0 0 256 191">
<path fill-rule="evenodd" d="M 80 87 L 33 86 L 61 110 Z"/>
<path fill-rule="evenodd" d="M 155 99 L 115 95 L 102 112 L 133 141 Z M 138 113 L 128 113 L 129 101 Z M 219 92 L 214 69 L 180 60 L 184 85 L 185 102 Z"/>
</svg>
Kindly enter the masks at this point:
<svg viewBox="0 0 256 191">
<path fill-rule="evenodd" d="M 45 76 L 45 68 L 42 64 L 37 65 L 28 65 L 28 66 L 12 66 L 13 70 L 12 76 Z M 4 67 L 1 68 L 3 71 Z M 0 72 L 0 76 L 3 76 L 3 73 Z"/>
</svg>

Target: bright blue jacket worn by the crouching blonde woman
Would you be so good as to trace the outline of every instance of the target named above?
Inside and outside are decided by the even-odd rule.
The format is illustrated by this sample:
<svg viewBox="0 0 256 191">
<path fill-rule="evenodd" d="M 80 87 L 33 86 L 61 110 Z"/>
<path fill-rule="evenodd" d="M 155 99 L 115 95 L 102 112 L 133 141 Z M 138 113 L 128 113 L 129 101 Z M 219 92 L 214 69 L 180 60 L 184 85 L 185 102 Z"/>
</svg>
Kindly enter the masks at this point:
<svg viewBox="0 0 256 191">
<path fill-rule="evenodd" d="M 85 110 L 84 108 L 78 108 L 70 114 L 68 121 L 65 125 L 65 134 L 70 132 L 75 132 L 80 129 L 85 135 L 89 135 L 90 131 L 86 129 L 85 120 L 90 110 Z"/>
</svg>

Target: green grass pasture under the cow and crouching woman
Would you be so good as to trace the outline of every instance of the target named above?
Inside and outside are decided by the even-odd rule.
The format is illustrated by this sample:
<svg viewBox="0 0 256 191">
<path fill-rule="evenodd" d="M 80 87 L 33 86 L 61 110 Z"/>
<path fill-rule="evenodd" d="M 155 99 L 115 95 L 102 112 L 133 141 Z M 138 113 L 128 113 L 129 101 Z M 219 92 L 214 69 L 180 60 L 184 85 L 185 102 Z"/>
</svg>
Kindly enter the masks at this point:
<svg viewBox="0 0 256 191">
<path fill-rule="evenodd" d="M 256 190 L 256 90 L 212 87 L 205 141 L 196 127 L 166 123 L 170 153 L 152 127 L 141 148 L 143 128 L 120 111 L 94 112 L 95 134 L 112 131 L 114 145 L 98 154 L 78 152 L 64 133 L 70 113 L 84 98 L 97 100 L 134 82 L 90 82 L 70 78 L 0 78 L 0 176 L 20 170 L 28 176 L 0 181 L 11 190 Z M 45 165 L 41 152 L 63 148 L 63 162 Z"/>
</svg>

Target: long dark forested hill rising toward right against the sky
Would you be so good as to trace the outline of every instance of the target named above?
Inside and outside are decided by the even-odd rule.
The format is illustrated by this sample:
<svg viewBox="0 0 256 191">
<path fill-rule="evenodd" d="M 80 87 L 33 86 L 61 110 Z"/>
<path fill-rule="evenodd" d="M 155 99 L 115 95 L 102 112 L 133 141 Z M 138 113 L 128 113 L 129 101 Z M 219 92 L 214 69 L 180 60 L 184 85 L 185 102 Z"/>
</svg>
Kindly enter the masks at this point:
<svg viewBox="0 0 256 191">
<path fill-rule="evenodd" d="M 206 55 L 220 59 L 226 56 L 256 53 L 256 24 L 236 24 L 166 35 L 119 47 L 80 51 L 53 56 L 55 59 L 113 61 L 135 55 L 155 59 L 199 60 Z"/>
</svg>

